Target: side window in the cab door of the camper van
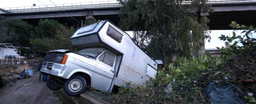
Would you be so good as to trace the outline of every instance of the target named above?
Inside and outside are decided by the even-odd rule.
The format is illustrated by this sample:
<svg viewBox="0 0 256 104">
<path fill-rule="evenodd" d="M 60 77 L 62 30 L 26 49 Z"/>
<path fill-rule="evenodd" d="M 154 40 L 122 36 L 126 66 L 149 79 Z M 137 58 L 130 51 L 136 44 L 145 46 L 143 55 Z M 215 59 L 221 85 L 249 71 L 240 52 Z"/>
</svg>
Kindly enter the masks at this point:
<svg viewBox="0 0 256 104">
<path fill-rule="evenodd" d="M 105 52 L 99 57 L 100 61 L 102 61 L 105 64 L 108 64 L 109 66 L 113 66 L 114 59 L 115 56 L 109 52 Z"/>
</svg>

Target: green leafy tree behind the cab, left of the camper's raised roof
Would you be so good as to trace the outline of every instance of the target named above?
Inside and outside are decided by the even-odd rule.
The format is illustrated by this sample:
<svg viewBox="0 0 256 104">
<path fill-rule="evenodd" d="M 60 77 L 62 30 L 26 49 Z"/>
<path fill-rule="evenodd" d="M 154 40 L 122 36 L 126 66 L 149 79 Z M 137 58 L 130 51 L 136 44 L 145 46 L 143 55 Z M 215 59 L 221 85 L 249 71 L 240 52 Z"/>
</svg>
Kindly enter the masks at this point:
<svg viewBox="0 0 256 104">
<path fill-rule="evenodd" d="M 54 22 L 53 24 L 51 22 Z M 95 23 L 95 20 L 85 20 L 84 25 L 90 25 L 91 23 Z M 33 50 L 35 53 L 46 53 L 50 50 L 57 49 L 66 49 L 72 51 L 78 51 L 78 48 L 75 48 L 71 41 L 70 37 L 77 30 L 74 26 L 66 26 L 58 23 L 54 20 L 40 20 L 39 25 L 35 27 L 36 33 L 34 38 L 30 39 L 30 44 L 33 45 Z M 43 25 L 42 25 L 43 24 Z M 49 27 L 52 27 L 52 30 L 47 30 Z M 38 30 L 38 28 L 44 30 Z M 46 33 L 47 35 L 41 34 Z M 42 36 L 42 37 L 40 37 Z M 33 37 L 33 36 L 32 36 Z"/>
</svg>

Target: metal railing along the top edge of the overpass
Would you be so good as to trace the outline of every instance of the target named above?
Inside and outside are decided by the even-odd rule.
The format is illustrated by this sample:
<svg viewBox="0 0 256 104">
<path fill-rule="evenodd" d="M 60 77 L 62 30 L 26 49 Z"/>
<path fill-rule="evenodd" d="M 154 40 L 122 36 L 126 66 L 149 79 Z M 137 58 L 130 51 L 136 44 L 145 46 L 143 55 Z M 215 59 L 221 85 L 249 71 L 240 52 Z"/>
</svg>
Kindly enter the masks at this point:
<svg viewBox="0 0 256 104">
<path fill-rule="evenodd" d="M 190 4 L 191 0 L 184 0 L 182 4 Z M 256 3 L 256 0 L 208 0 L 209 4 L 232 4 L 232 3 Z M 94 8 L 119 8 L 122 5 L 115 1 L 102 1 L 102 2 L 85 2 L 85 3 L 69 3 L 69 4 L 57 4 L 57 5 L 41 5 L 30 7 L 12 7 L 12 8 L 0 8 L 0 14 L 11 13 L 35 13 L 35 12 L 52 12 L 62 10 L 82 10 L 82 9 L 94 9 Z"/>
</svg>

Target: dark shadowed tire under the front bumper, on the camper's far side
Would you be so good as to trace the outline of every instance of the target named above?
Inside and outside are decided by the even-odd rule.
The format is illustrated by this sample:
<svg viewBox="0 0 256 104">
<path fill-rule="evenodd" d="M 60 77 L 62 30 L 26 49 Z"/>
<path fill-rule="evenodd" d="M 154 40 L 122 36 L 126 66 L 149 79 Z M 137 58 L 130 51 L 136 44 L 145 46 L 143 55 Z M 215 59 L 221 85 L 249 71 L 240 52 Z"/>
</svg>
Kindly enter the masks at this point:
<svg viewBox="0 0 256 104">
<path fill-rule="evenodd" d="M 49 78 L 46 81 L 47 87 L 52 90 L 58 90 L 62 88 L 61 86 L 57 86 L 58 83 L 61 83 L 61 82 L 56 80 L 53 76 L 49 76 Z"/>
</svg>

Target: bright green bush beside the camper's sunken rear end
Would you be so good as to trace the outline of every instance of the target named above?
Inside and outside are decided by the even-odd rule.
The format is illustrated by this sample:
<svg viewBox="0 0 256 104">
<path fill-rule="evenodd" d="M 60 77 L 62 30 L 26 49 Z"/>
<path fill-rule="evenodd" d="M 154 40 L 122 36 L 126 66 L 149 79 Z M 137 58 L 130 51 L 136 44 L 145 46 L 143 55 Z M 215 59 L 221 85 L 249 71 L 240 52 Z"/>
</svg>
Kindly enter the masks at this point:
<svg viewBox="0 0 256 104">
<path fill-rule="evenodd" d="M 177 58 L 174 63 L 168 66 L 169 71 L 166 69 L 157 72 L 156 79 L 153 80 L 154 86 L 166 85 L 172 81 L 190 81 L 196 79 L 202 74 L 204 70 L 217 66 L 221 63 L 221 59 L 211 57 L 210 54 L 199 56 L 196 58 Z"/>
</svg>

